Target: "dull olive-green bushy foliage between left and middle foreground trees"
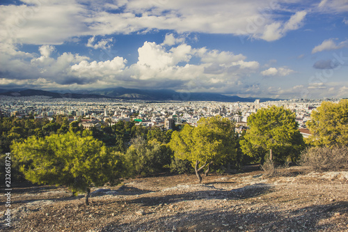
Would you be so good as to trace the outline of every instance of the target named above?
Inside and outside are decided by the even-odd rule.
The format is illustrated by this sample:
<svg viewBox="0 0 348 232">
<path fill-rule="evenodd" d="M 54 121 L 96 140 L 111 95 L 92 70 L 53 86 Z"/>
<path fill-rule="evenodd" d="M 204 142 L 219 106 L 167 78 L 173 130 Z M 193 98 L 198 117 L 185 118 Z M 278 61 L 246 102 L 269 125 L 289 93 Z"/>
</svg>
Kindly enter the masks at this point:
<svg viewBox="0 0 348 232">
<path fill-rule="evenodd" d="M 171 164 L 171 156 L 171 148 L 157 139 L 146 141 L 143 137 L 136 137 L 132 139 L 125 160 L 129 165 L 129 173 L 148 176 L 164 171 L 164 167 Z"/>
</svg>

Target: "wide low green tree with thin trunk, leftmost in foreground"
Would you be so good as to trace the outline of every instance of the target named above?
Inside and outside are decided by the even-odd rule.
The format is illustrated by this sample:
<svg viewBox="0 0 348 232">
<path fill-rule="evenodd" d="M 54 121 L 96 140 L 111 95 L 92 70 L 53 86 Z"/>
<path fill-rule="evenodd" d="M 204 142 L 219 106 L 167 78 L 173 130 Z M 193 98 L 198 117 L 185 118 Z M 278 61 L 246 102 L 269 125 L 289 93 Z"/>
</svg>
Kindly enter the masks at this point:
<svg viewBox="0 0 348 232">
<path fill-rule="evenodd" d="M 85 133 L 86 134 L 86 133 Z M 90 186 L 115 183 L 122 176 L 120 154 L 107 150 L 101 141 L 87 133 L 73 132 L 49 137 L 29 137 L 11 146 L 15 160 L 27 180 L 38 184 L 66 185 L 73 193 L 86 192 Z"/>
</svg>

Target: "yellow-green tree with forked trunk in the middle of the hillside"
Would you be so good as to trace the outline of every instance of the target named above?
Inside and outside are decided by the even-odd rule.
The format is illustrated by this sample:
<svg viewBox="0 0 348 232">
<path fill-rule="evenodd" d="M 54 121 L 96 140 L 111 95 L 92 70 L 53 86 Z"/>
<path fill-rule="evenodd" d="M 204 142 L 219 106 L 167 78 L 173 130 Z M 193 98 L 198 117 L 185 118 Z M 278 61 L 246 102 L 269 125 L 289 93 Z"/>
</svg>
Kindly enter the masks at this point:
<svg viewBox="0 0 348 232">
<path fill-rule="evenodd" d="M 209 164 L 219 164 L 225 157 L 236 155 L 235 125 L 227 118 L 215 116 L 201 118 L 197 127 L 184 125 L 180 132 L 174 131 L 169 143 L 175 157 L 189 160 L 196 171 L 199 182 L 202 182 L 200 171 Z"/>
</svg>

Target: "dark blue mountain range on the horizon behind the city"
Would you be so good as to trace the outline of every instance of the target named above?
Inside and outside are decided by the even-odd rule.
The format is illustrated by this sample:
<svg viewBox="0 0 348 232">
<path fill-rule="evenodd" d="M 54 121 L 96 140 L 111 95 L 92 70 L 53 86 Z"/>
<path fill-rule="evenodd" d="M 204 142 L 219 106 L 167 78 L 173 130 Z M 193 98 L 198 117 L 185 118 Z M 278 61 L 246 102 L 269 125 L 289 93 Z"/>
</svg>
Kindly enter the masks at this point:
<svg viewBox="0 0 348 232">
<path fill-rule="evenodd" d="M 0 95 L 8 96 L 48 96 L 52 98 L 118 98 L 127 100 L 187 100 L 187 101 L 216 101 L 216 102 L 254 102 L 257 98 L 240 98 L 219 93 L 180 93 L 169 89 L 138 89 L 138 88 L 104 88 L 99 90 L 71 91 L 42 91 L 26 89 L 22 91 L 7 91 Z M 279 100 L 273 98 L 258 98 L 260 102 Z"/>
</svg>

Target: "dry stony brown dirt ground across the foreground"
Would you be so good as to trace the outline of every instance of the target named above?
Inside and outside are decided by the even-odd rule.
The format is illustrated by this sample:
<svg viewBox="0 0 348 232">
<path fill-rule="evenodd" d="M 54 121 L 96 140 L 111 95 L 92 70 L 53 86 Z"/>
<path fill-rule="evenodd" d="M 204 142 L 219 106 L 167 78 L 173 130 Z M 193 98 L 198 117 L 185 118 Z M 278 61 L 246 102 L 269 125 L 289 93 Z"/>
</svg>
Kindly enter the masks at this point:
<svg viewBox="0 0 348 232">
<path fill-rule="evenodd" d="M 12 231 L 348 231 L 348 171 L 261 171 L 125 180 L 93 188 L 90 206 L 64 187 L 13 188 Z"/>
</svg>

